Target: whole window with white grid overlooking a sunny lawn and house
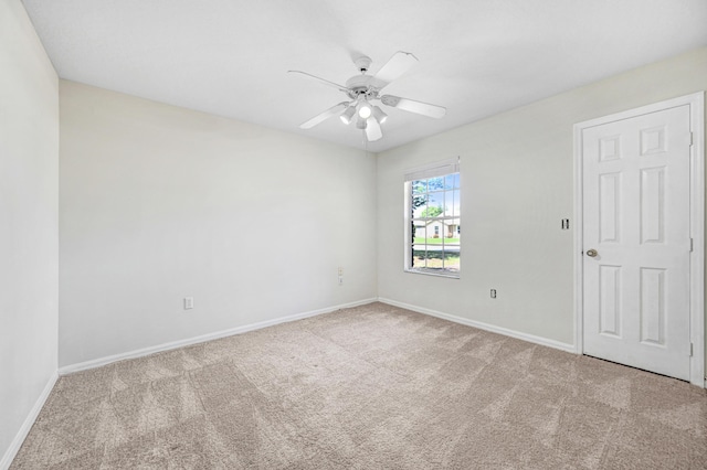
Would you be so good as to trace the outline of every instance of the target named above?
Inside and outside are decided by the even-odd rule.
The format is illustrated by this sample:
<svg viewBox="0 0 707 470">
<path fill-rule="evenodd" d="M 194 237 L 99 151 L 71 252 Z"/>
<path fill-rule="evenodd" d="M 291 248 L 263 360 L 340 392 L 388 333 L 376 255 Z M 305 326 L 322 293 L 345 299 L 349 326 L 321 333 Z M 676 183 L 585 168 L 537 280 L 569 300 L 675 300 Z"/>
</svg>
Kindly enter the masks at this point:
<svg viewBox="0 0 707 470">
<path fill-rule="evenodd" d="M 405 173 L 405 270 L 458 277 L 458 160 Z"/>
</svg>

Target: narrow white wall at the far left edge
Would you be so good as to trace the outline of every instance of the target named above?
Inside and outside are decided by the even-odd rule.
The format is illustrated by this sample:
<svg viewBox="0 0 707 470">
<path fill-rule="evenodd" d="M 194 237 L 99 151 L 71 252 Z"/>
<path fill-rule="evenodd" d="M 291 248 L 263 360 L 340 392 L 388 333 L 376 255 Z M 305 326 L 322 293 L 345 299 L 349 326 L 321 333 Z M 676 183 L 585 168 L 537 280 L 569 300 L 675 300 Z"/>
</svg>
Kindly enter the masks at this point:
<svg viewBox="0 0 707 470">
<path fill-rule="evenodd" d="M 19 0 L 0 1 L 0 468 L 56 373 L 59 81 Z"/>
</svg>

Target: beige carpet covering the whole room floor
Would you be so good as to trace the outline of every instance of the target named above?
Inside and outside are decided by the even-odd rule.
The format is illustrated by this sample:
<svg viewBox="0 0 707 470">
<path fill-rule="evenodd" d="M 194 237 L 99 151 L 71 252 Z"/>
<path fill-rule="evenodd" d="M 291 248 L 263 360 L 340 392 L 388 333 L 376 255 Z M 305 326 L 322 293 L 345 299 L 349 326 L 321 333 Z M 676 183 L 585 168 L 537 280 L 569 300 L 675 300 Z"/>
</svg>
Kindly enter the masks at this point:
<svg viewBox="0 0 707 470">
<path fill-rule="evenodd" d="M 687 383 L 371 303 L 62 377 L 12 469 L 705 469 Z"/>
</svg>

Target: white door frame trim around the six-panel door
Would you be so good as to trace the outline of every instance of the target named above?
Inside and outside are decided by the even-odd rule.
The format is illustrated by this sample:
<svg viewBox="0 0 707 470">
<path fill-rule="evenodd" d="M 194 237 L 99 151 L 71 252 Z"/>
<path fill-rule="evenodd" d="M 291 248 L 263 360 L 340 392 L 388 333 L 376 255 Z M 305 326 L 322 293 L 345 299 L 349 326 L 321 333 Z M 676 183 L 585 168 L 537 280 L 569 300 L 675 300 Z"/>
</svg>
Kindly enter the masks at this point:
<svg viewBox="0 0 707 470">
<path fill-rule="evenodd" d="M 705 92 L 698 92 L 622 113 L 602 116 L 574 125 L 574 350 L 583 353 L 583 188 L 582 131 L 587 128 L 689 105 L 690 131 L 690 236 L 689 257 L 689 331 L 693 355 L 689 357 L 689 382 L 707 387 L 705 377 Z"/>
</svg>

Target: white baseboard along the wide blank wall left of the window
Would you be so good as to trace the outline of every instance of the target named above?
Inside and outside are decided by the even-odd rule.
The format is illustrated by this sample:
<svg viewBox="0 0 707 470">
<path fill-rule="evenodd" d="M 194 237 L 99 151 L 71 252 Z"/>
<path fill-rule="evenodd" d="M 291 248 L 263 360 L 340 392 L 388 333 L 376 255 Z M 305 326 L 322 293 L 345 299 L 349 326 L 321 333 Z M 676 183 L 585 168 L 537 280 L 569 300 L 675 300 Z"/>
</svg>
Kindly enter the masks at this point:
<svg viewBox="0 0 707 470">
<path fill-rule="evenodd" d="M 203 343 L 205 341 L 218 340 L 220 338 L 232 337 L 234 334 L 246 333 L 253 330 L 260 330 L 261 328 L 273 327 L 279 323 L 286 323 L 288 321 L 302 320 L 308 317 L 315 317 L 323 313 L 329 313 L 340 309 L 347 309 L 350 307 L 363 306 L 366 303 L 374 302 L 377 299 L 365 299 L 356 302 L 341 303 L 338 306 L 326 307 L 324 309 L 312 310 L 303 313 L 295 313 L 287 317 L 281 317 L 273 320 L 258 321 L 257 323 L 245 324 L 243 327 L 231 328 L 229 330 L 217 331 L 213 333 L 202 334 L 199 337 L 187 338 L 184 340 L 171 341 L 169 343 L 158 344 L 155 346 L 143 348 L 135 351 L 128 351 L 119 354 L 109 355 L 106 357 L 98 357 L 86 362 L 80 362 L 77 364 L 65 365 L 59 368 L 59 375 L 66 375 L 73 372 L 86 371 L 88 368 L 101 367 L 102 365 L 110 364 L 113 362 L 123 361 L 126 359 L 141 357 L 149 354 L 155 354 L 162 351 L 169 351 L 177 348 L 189 346 L 197 343 Z"/>
</svg>

